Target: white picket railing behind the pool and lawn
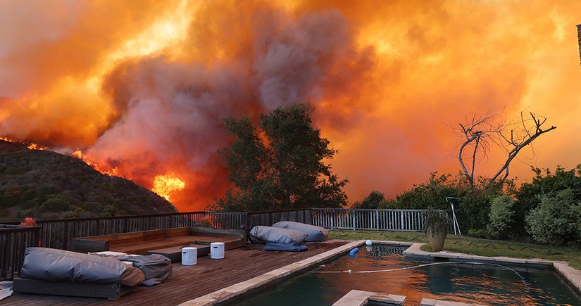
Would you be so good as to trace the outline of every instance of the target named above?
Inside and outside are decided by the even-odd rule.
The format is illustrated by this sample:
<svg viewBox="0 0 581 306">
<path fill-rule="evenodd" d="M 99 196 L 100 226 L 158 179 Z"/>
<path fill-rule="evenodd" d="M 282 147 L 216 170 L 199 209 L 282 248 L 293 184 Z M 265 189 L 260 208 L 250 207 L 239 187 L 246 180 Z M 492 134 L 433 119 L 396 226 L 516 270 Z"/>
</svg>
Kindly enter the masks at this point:
<svg viewBox="0 0 581 306">
<path fill-rule="evenodd" d="M 327 229 L 423 231 L 425 210 L 312 208 L 313 225 Z"/>
</svg>

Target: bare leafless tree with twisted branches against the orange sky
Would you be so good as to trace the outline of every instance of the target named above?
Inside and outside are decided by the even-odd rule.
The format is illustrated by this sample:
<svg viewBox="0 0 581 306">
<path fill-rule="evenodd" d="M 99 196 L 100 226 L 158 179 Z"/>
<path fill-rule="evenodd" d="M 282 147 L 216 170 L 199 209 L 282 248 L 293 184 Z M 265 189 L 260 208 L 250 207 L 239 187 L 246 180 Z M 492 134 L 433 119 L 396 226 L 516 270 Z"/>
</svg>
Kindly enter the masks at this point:
<svg viewBox="0 0 581 306">
<path fill-rule="evenodd" d="M 520 112 L 520 120 L 507 122 L 498 114 L 475 113 L 471 120 L 466 120 L 464 124 L 458 124 L 459 129 L 456 129 L 456 134 L 463 139 L 458 149 L 458 161 L 470 185 L 474 186 L 474 172 L 477 163 L 487 160 L 492 146 L 504 148 L 507 156 L 498 172 L 489 179 L 485 188 L 492 186 L 496 179 L 499 179 L 499 182 L 506 181 L 509 166 L 518 153 L 542 134 L 557 128 L 555 126 L 544 128 L 546 117 L 530 112 L 528 115 L 530 118 L 525 117 L 524 112 Z"/>
</svg>

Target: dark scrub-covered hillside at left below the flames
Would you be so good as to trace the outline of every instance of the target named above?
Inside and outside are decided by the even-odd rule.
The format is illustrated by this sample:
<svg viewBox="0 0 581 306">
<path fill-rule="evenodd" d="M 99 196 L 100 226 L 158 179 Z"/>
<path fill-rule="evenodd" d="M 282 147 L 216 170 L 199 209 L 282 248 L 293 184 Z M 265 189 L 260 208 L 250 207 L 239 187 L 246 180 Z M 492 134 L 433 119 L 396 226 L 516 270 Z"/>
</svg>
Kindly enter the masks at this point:
<svg viewBox="0 0 581 306">
<path fill-rule="evenodd" d="M 0 222 L 177 212 L 156 193 L 82 160 L 0 140 Z"/>
</svg>

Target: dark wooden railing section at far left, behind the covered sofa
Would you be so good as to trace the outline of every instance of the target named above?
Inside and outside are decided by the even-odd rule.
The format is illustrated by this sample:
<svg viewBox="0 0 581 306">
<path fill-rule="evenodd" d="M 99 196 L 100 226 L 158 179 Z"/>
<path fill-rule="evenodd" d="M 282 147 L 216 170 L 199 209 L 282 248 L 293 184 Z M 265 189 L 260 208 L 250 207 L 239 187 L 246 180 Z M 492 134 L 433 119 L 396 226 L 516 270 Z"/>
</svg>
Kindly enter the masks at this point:
<svg viewBox="0 0 581 306">
<path fill-rule="evenodd" d="M 38 246 L 40 227 L 0 224 L 0 281 L 20 273 L 26 248 Z"/>
</svg>

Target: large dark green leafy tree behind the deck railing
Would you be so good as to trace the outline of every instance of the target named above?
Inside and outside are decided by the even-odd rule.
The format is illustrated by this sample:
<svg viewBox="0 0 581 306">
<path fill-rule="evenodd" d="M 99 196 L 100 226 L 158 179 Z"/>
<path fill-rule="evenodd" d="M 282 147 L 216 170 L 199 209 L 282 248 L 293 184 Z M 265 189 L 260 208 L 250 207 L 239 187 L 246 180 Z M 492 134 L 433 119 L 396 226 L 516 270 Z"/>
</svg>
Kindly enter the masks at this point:
<svg viewBox="0 0 581 306">
<path fill-rule="evenodd" d="M 227 117 L 225 132 L 235 137 L 218 151 L 235 188 L 215 199 L 215 209 L 285 210 L 346 205 L 346 179 L 332 174 L 330 141 L 311 127 L 314 108 L 299 103 L 258 117 Z"/>
</svg>

